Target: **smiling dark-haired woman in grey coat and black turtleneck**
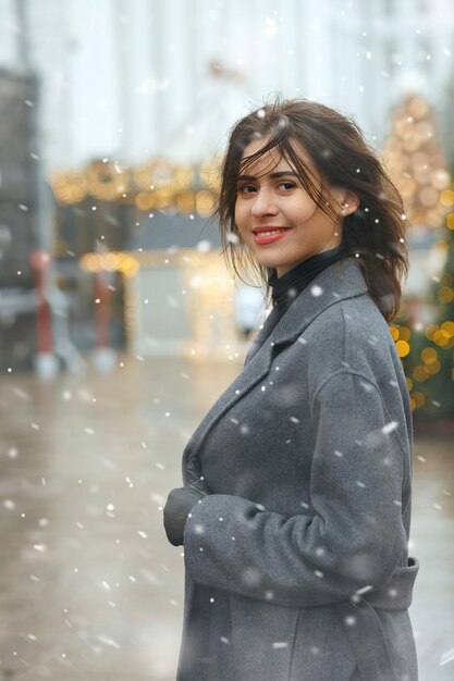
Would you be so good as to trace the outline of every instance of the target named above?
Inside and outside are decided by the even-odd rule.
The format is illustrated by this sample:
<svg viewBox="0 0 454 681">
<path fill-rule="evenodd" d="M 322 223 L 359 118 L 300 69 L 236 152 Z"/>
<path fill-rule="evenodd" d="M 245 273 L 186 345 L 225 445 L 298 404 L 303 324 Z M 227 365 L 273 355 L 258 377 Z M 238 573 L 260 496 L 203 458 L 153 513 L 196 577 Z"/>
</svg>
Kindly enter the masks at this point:
<svg viewBox="0 0 454 681">
<path fill-rule="evenodd" d="M 164 509 L 179 681 L 415 681 L 402 200 L 352 121 L 292 100 L 233 127 L 218 215 L 273 310 Z"/>
</svg>

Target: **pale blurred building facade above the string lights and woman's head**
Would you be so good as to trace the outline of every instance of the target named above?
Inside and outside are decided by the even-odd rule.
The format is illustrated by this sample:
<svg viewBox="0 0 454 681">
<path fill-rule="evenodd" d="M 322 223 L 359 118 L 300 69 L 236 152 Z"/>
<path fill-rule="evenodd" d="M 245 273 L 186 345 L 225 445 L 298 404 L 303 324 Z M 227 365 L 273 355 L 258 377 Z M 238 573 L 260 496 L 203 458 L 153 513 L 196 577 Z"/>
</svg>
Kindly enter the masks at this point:
<svg viewBox="0 0 454 681">
<path fill-rule="evenodd" d="M 417 88 L 441 114 L 450 0 L 0 0 L 0 65 L 41 83 L 46 170 L 93 158 L 200 161 L 279 94 L 352 114 L 380 144 Z M 25 44 L 25 50 L 24 50 Z"/>
</svg>

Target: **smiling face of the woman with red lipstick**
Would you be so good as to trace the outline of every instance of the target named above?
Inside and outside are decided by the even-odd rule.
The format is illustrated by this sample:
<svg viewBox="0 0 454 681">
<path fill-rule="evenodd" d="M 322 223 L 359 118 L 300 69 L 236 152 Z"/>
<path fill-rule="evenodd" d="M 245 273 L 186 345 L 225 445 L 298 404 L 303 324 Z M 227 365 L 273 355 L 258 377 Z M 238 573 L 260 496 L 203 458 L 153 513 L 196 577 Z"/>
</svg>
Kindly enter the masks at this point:
<svg viewBox="0 0 454 681">
<path fill-rule="evenodd" d="M 243 158 L 259 151 L 267 141 L 251 141 Z M 320 186 L 320 178 L 303 151 L 302 160 L 312 173 L 314 183 Z M 333 188 L 327 196 L 327 202 L 339 213 L 339 220 L 333 220 L 310 198 L 279 149 L 258 158 L 245 173 L 238 176 L 235 222 L 243 242 L 261 265 L 275 269 L 282 276 L 307 258 L 341 244 L 345 190 Z"/>
</svg>

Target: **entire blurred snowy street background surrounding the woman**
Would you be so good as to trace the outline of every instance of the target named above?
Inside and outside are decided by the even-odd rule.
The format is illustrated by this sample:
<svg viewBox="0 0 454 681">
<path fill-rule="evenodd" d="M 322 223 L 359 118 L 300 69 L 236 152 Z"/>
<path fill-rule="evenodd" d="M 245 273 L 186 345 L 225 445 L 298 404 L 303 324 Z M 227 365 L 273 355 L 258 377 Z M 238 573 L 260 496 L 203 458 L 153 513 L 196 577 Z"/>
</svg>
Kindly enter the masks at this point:
<svg viewBox="0 0 454 681">
<path fill-rule="evenodd" d="M 277 95 L 353 116 L 405 200 L 412 614 L 454 678 L 452 2 L 0 0 L 0 680 L 174 678 L 162 504 L 266 306 L 210 215 Z"/>
</svg>

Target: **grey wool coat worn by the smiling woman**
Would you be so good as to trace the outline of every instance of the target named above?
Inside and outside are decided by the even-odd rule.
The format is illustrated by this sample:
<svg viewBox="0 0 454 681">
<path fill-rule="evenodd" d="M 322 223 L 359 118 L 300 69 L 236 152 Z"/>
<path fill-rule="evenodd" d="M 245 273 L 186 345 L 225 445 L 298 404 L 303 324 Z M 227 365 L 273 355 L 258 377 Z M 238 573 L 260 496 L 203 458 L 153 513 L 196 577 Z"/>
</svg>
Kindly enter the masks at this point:
<svg viewBox="0 0 454 681">
<path fill-rule="evenodd" d="M 357 261 L 275 322 L 183 455 L 212 494 L 184 532 L 177 681 L 416 681 L 412 413 Z"/>
</svg>

